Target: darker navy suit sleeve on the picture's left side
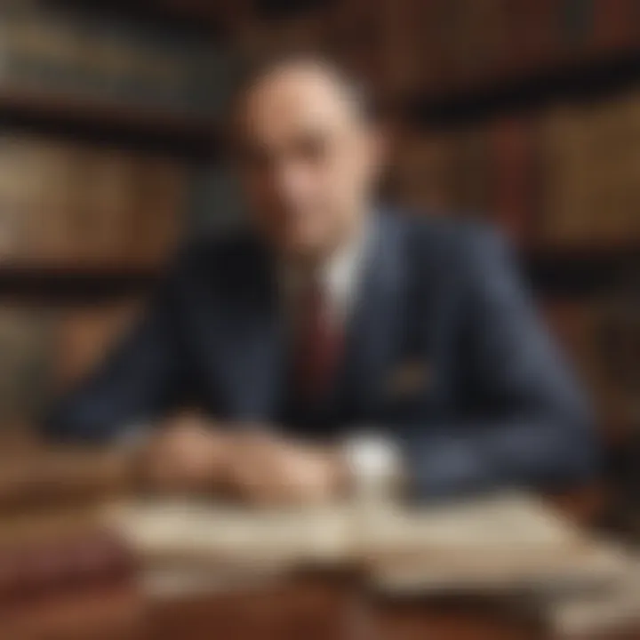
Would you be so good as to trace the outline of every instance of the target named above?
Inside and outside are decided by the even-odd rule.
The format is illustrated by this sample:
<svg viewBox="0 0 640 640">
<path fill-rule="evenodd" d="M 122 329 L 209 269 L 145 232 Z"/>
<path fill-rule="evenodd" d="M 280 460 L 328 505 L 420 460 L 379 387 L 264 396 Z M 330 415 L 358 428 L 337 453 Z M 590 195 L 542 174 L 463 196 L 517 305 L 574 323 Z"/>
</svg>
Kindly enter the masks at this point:
<svg viewBox="0 0 640 640">
<path fill-rule="evenodd" d="M 44 421 L 45 436 L 108 441 L 179 401 L 185 376 L 175 322 L 178 279 L 177 273 L 167 277 L 107 360 L 52 407 Z"/>
</svg>

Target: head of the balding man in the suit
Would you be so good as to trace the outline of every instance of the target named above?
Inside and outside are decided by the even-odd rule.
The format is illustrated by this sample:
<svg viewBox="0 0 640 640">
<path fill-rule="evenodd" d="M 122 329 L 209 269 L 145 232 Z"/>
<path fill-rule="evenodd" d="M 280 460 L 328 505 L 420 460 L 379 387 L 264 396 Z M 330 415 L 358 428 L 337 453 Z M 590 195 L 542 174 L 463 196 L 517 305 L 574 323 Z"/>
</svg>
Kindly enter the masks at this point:
<svg viewBox="0 0 640 640">
<path fill-rule="evenodd" d="M 277 252 L 318 260 L 356 233 L 381 159 L 356 84 L 327 61 L 292 56 L 243 84 L 233 116 L 240 178 Z"/>
</svg>

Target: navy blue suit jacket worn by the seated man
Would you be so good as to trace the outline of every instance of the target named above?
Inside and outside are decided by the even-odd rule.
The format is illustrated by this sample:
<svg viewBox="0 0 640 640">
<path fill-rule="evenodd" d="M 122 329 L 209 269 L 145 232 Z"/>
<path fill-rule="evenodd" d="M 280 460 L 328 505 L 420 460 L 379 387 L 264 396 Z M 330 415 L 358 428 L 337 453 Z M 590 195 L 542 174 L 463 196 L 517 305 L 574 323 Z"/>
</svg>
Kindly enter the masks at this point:
<svg viewBox="0 0 640 640">
<path fill-rule="evenodd" d="M 373 228 L 340 375 L 320 406 L 290 393 L 272 260 L 246 232 L 185 249 L 142 322 L 46 428 L 106 440 L 196 404 L 297 436 L 372 426 L 399 444 L 422 496 L 593 474 L 584 399 L 500 237 L 389 213 Z"/>
</svg>

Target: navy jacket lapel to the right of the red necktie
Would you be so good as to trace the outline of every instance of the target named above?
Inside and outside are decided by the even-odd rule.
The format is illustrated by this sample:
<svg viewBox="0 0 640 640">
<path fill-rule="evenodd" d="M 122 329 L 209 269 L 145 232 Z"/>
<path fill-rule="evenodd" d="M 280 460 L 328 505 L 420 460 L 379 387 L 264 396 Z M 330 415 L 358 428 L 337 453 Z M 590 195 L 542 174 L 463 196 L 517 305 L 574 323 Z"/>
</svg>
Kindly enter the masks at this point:
<svg viewBox="0 0 640 640">
<path fill-rule="evenodd" d="M 407 282 L 401 234 L 394 218 L 380 214 L 374 219 L 343 367 L 343 398 L 351 420 L 373 418 L 385 374 L 401 346 Z"/>
</svg>

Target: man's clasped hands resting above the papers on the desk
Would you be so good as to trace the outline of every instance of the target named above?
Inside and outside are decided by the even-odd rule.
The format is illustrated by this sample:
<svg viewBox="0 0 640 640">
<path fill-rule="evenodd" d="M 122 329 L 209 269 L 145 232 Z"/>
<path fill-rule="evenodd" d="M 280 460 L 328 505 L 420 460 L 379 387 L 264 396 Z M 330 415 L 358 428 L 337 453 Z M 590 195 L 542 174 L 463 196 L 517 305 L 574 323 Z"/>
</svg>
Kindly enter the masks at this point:
<svg viewBox="0 0 640 640">
<path fill-rule="evenodd" d="M 220 428 L 198 417 L 168 421 L 140 463 L 143 480 L 157 491 L 264 506 L 335 499 L 347 478 L 340 455 L 328 447 L 294 444 L 260 426 Z"/>
</svg>

